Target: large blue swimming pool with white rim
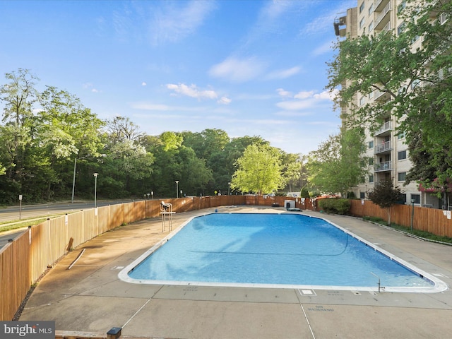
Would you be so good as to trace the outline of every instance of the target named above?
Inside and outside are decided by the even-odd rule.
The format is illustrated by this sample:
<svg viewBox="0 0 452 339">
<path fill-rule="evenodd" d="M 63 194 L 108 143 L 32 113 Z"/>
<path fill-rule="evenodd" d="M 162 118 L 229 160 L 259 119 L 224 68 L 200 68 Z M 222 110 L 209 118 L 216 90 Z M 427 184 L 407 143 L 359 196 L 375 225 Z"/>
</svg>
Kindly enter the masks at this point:
<svg viewBox="0 0 452 339">
<path fill-rule="evenodd" d="M 445 285 L 331 222 L 290 213 L 192 218 L 119 278 L 163 285 L 352 290 L 375 290 L 380 283 L 388 291 L 410 292 L 439 292 Z"/>
</svg>

